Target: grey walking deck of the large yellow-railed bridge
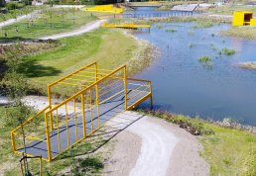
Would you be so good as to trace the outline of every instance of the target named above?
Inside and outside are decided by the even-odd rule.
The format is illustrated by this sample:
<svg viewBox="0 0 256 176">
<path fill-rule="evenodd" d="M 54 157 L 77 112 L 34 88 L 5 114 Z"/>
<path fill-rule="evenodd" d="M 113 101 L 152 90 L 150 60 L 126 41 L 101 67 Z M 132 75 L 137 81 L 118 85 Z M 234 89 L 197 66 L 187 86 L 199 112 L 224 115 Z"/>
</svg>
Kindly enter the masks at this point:
<svg viewBox="0 0 256 176">
<path fill-rule="evenodd" d="M 133 99 L 131 101 L 128 101 L 128 106 L 132 105 L 136 101 L 144 98 L 147 96 L 148 92 L 142 92 L 138 90 L 132 90 L 128 93 L 128 100 L 129 97 L 133 97 L 134 95 L 139 96 L 136 99 Z M 97 118 L 97 107 L 94 107 L 92 109 L 92 121 L 91 121 L 91 111 L 86 110 L 85 111 L 85 122 L 86 122 L 86 136 L 88 136 L 92 130 L 95 130 L 97 128 L 102 127 L 107 121 L 109 121 L 111 118 L 117 116 L 119 113 L 122 113 L 125 111 L 125 105 L 124 105 L 124 97 L 123 95 L 120 95 L 118 97 L 115 97 L 103 104 L 99 105 L 99 119 Z M 68 146 L 74 144 L 79 139 L 83 138 L 83 123 L 82 123 L 82 116 L 81 114 L 76 114 L 77 121 L 75 122 L 74 119 L 68 121 L 68 125 L 66 128 L 66 125 L 63 125 L 60 127 L 59 132 L 60 135 L 58 135 L 58 130 L 53 130 L 50 133 L 51 138 L 51 153 L 53 158 L 58 156 L 60 153 L 62 153 Z M 99 121 L 99 126 L 98 126 Z M 77 127 L 77 128 L 76 128 Z M 69 132 L 69 138 L 67 141 L 66 136 L 67 132 Z M 46 135 L 43 135 L 41 137 L 43 140 L 46 140 Z M 59 139 L 60 138 L 60 145 L 59 145 Z M 68 145 L 69 142 L 69 145 Z M 22 147 L 18 149 L 19 152 L 24 152 L 25 148 Z M 30 155 L 42 155 L 43 158 L 48 159 L 48 145 L 47 142 L 42 140 L 34 140 L 31 143 L 26 145 L 26 152 Z"/>
</svg>

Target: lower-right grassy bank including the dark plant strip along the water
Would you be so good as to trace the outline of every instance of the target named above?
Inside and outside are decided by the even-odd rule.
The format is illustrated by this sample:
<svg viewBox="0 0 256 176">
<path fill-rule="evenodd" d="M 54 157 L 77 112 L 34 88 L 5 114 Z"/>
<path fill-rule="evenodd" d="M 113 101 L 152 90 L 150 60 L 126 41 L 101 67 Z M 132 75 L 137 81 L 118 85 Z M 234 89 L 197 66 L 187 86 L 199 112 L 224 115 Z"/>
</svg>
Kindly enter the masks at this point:
<svg viewBox="0 0 256 176">
<path fill-rule="evenodd" d="M 210 175 L 256 175 L 256 133 L 182 115 L 146 113 L 198 135 L 203 145 L 200 154 L 209 163 Z"/>
</svg>

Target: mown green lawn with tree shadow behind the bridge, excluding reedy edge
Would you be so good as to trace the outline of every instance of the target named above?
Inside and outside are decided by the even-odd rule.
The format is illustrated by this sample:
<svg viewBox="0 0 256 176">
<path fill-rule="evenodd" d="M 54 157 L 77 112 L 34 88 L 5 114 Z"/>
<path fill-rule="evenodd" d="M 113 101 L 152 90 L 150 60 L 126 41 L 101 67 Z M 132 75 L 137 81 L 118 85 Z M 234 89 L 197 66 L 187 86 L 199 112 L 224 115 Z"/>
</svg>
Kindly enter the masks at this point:
<svg viewBox="0 0 256 176">
<path fill-rule="evenodd" d="M 83 65 L 97 61 L 99 67 L 113 69 L 128 62 L 137 50 L 136 40 L 106 28 L 60 42 L 63 45 L 24 58 L 23 72 L 31 89 L 46 94 L 48 84 Z"/>
</svg>

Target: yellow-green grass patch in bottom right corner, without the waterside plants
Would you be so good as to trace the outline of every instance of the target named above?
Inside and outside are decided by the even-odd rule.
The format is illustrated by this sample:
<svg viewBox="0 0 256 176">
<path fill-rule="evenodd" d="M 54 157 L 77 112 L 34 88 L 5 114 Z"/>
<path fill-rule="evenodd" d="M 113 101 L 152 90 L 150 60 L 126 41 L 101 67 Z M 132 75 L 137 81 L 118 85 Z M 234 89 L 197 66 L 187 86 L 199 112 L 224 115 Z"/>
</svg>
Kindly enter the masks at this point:
<svg viewBox="0 0 256 176">
<path fill-rule="evenodd" d="M 211 175 L 256 175 L 256 135 L 205 125 L 214 134 L 200 139 Z"/>
</svg>

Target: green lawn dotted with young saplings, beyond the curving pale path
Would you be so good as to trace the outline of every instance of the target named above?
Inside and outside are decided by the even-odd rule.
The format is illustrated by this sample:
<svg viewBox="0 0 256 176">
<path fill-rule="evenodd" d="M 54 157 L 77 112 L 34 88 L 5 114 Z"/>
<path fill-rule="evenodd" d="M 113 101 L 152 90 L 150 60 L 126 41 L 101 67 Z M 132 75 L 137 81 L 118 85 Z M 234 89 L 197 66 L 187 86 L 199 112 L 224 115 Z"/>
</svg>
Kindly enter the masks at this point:
<svg viewBox="0 0 256 176">
<path fill-rule="evenodd" d="M 0 41 L 8 41 L 13 38 L 39 38 L 64 33 L 77 29 L 93 20 L 96 20 L 96 18 L 91 16 L 91 13 L 81 10 L 72 8 L 44 9 L 36 19 L 26 19 L 4 27 Z"/>
</svg>

